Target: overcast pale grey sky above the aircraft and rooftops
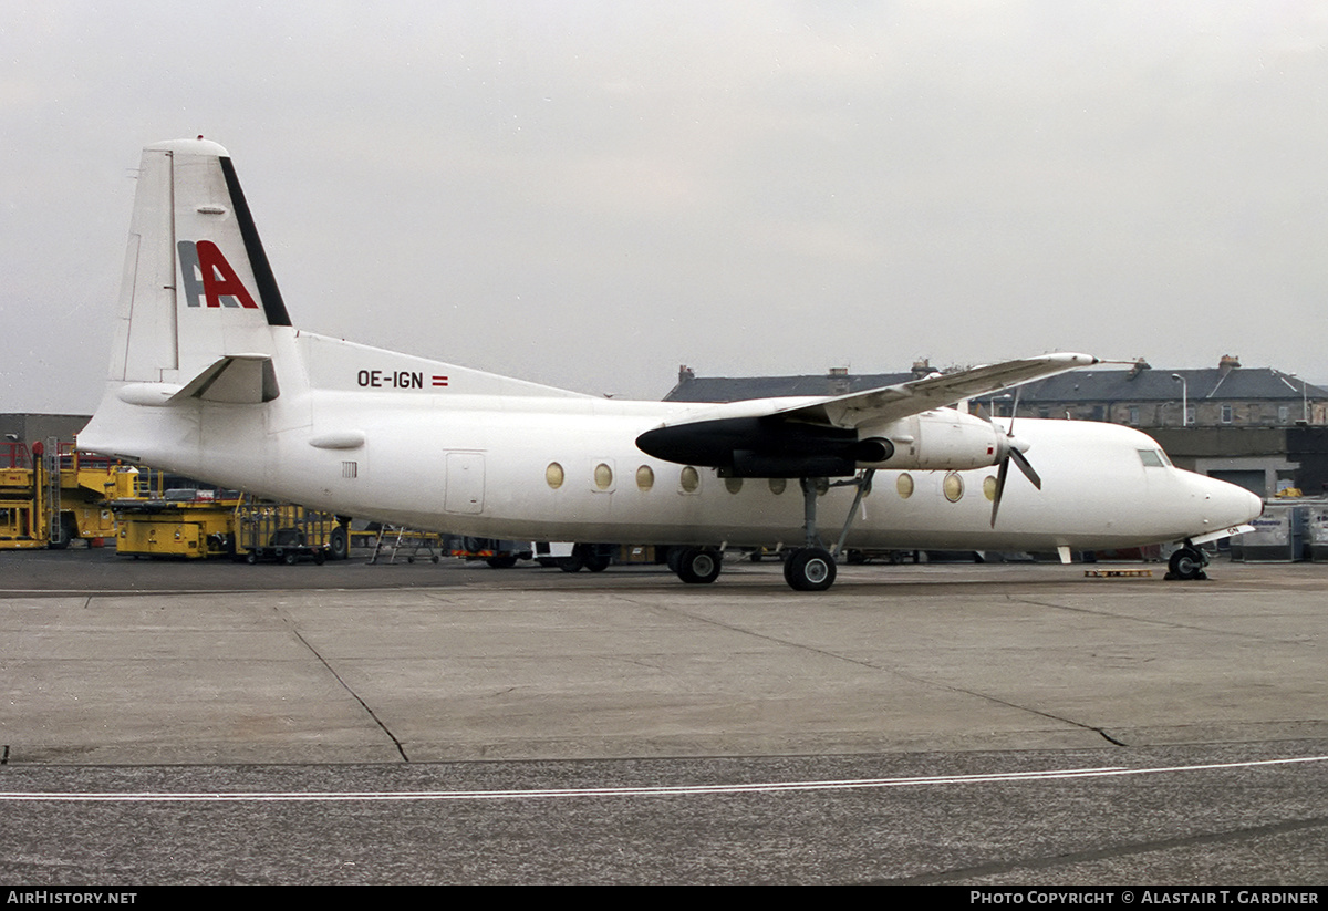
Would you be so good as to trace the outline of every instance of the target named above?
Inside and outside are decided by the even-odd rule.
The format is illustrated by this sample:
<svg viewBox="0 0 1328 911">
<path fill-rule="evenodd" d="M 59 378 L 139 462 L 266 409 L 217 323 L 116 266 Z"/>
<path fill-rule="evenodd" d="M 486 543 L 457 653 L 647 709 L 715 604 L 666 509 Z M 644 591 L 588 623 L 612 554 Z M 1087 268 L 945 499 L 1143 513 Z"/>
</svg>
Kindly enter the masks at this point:
<svg viewBox="0 0 1328 911">
<path fill-rule="evenodd" d="M 579 389 L 1044 351 L 1328 378 L 1328 4 L 0 0 L 0 412 L 101 393 L 141 147 L 296 325 Z"/>
</svg>

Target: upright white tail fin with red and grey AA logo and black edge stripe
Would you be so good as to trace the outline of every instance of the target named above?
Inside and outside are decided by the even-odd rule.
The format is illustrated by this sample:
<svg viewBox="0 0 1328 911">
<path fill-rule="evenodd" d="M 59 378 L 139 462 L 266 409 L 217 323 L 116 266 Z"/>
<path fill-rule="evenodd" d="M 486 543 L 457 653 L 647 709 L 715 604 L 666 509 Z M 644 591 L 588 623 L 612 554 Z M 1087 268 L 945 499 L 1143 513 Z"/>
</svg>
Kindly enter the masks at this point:
<svg viewBox="0 0 1328 911">
<path fill-rule="evenodd" d="M 222 359 L 271 359 L 288 327 L 230 154 L 206 139 L 143 149 L 110 377 L 190 384 Z"/>
</svg>

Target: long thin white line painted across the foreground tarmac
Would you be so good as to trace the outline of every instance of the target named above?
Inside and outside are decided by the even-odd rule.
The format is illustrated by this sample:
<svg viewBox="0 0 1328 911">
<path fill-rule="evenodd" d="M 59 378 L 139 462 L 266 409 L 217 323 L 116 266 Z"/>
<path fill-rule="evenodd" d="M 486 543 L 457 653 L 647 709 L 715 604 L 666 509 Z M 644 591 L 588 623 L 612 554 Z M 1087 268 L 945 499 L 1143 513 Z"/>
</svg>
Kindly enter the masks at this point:
<svg viewBox="0 0 1328 911">
<path fill-rule="evenodd" d="M 911 778 L 850 778 L 845 781 L 786 781 L 748 785 L 657 785 L 648 787 L 544 787 L 486 791 L 0 791 L 0 801 L 46 802 L 335 802 L 335 801 L 497 801 L 542 799 L 551 797 L 679 797 L 688 794 L 773 794 L 780 791 L 867 790 L 874 787 L 918 787 L 930 785 L 973 785 L 988 782 L 1057 781 L 1068 778 L 1106 778 L 1215 769 L 1251 769 L 1258 766 L 1325 762 L 1328 756 L 1308 756 L 1251 762 L 1215 762 L 1208 765 L 1173 765 L 1147 769 L 1104 766 L 1097 769 L 1054 769 L 1049 772 L 1008 772 L 973 776 L 920 776 Z"/>
</svg>

